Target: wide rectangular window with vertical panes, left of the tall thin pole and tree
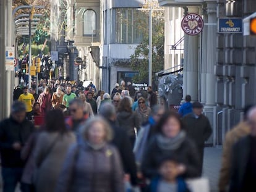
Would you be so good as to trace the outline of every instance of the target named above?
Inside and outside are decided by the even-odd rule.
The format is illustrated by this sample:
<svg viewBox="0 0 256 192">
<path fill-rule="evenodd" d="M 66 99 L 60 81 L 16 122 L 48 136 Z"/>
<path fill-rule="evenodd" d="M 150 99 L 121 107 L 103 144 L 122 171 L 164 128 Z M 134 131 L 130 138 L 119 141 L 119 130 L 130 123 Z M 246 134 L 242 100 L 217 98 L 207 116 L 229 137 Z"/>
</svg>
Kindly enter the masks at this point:
<svg viewBox="0 0 256 192">
<path fill-rule="evenodd" d="M 114 43 L 139 44 L 142 33 L 139 30 L 141 12 L 135 9 L 116 9 Z"/>
</svg>

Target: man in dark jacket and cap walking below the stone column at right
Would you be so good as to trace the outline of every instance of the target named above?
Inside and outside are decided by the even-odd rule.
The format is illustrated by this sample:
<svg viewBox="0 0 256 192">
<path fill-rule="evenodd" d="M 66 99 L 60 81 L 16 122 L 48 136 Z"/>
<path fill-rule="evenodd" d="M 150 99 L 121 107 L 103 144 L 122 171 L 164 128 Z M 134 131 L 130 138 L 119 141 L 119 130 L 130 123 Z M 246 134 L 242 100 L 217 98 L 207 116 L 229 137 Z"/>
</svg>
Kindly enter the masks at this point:
<svg viewBox="0 0 256 192">
<path fill-rule="evenodd" d="M 194 140 L 198 152 L 200 154 L 200 173 L 203 169 L 203 149 L 205 147 L 205 141 L 210 138 L 212 129 L 210 122 L 203 112 L 203 105 L 200 102 L 194 102 L 192 104 L 193 112 L 187 114 L 182 122 L 185 125 L 187 135 Z"/>
</svg>

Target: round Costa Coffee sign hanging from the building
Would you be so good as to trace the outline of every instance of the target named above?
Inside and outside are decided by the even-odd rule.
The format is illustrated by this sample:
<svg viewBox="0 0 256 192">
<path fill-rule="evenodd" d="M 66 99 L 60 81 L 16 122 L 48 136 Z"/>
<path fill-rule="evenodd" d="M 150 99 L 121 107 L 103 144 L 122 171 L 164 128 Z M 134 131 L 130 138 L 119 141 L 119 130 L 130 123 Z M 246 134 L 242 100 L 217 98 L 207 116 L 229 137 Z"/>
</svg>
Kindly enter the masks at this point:
<svg viewBox="0 0 256 192">
<path fill-rule="evenodd" d="M 182 19 L 181 28 L 187 35 L 197 35 L 203 30 L 203 19 L 200 15 L 188 14 Z"/>
</svg>

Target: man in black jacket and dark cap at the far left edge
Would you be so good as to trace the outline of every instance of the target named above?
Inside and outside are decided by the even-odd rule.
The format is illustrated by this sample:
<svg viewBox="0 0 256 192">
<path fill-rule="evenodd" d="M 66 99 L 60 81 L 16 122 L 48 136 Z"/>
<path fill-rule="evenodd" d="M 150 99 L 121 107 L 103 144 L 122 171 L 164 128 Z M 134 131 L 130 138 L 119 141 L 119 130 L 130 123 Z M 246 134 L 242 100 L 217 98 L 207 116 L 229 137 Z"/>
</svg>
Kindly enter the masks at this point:
<svg viewBox="0 0 256 192">
<path fill-rule="evenodd" d="M 15 101 L 11 117 L 0 122 L 3 192 L 15 191 L 21 180 L 25 162 L 20 158 L 20 151 L 33 130 L 33 124 L 26 119 L 25 104 Z M 21 183 L 21 190 L 23 187 L 24 184 Z"/>
</svg>

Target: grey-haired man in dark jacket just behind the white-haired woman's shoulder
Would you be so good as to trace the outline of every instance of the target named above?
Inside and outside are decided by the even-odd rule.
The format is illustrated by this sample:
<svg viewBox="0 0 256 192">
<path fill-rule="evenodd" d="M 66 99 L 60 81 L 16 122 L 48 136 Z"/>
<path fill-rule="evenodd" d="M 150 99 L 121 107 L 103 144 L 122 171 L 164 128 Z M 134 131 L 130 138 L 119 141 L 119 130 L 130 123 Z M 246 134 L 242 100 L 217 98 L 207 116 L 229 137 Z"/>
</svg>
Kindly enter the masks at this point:
<svg viewBox="0 0 256 192">
<path fill-rule="evenodd" d="M 134 154 L 132 152 L 132 145 L 126 131 L 116 126 L 116 109 L 113 104 L 106 102 L 100 108 L 100 115 L 102 115 L 113 128 L 114 138 L 112 143 L 117 147 L 121 155 L 124 170 L 130 175 L 130 182 L 132 186 L 137 186 L 137 168 L 135 164 Z"/>
</svg>

